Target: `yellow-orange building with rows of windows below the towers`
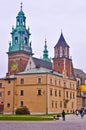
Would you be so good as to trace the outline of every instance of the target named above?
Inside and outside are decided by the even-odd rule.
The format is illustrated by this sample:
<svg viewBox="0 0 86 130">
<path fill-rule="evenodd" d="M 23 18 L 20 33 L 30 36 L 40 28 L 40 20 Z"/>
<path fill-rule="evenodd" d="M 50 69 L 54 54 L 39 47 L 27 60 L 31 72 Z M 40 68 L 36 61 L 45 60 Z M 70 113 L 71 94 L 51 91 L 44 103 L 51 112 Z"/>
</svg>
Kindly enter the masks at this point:
<svg viewBox="0 0 86 130">
<path fill-rule="evenodd" d="M 1 82 L 4 113 L 14 113 L 22 106 L 27 106 L 32 114 L 76 110 L 76 81 L 55 71 L 34 68 Z"/>
</svg>

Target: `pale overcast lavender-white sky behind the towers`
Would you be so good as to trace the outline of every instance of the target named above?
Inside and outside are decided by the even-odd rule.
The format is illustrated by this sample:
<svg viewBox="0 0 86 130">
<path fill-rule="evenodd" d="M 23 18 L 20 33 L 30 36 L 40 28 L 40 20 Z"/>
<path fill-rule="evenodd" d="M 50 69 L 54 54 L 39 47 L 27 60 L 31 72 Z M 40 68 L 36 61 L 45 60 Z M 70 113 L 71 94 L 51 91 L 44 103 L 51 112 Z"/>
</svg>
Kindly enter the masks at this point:
<svg viewBox="0 0 86 130">
<path fill-rule="evenodd" d="M 0 0 L 0 77 L 8 71 L 8 46 L 20 3 L 30 27 L 34 57 L 42 57 L 45 38 L 49 57 L 61 31 L 70 46 L 74 68 L 86 72 L 86 0 Z"/>
</svg>

